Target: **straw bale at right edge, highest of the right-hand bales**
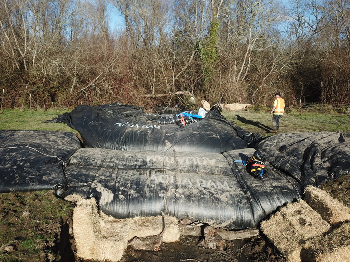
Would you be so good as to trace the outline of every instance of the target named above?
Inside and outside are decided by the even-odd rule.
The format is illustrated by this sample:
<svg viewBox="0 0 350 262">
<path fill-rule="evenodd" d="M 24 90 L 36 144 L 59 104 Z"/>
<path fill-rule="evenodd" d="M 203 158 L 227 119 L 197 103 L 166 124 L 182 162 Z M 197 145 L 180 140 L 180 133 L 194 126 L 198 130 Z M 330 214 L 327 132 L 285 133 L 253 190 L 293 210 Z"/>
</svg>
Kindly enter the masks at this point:
<svg viewBox="0 0 350 262">
<path fill-rule="evenodd" d="M 329 224 L 338 225 L 350 221 L 350 209 L 331 197 L 327 192 L 314 186 L 306 187 L 305 201 Z"/>
</svg>

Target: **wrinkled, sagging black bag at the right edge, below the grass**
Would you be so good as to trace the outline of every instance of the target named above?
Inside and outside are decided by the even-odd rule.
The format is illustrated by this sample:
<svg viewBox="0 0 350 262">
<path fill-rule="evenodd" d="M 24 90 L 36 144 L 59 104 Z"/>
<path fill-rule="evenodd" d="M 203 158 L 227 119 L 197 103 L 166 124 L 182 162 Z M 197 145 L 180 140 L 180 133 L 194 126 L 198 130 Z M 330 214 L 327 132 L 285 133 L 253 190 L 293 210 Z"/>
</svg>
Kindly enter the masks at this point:
<svg viewBox="0 0 350 262">
<path fill-rule="evenodd" d="M 264 139 L 256 149 L 303 187 L 319 187 L 350 172 L 350 140 L 341 132 L 282 133 Z"/>
</svg>

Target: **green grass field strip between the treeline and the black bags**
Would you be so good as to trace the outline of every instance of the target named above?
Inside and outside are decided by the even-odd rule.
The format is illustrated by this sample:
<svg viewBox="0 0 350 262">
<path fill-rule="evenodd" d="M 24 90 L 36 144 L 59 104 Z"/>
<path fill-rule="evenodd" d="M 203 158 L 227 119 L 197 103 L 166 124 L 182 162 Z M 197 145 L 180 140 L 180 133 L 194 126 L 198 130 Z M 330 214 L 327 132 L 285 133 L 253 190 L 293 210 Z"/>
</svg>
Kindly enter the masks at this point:
<svg viewBox="0 0 350 262">
<path fill-rule="evenodd" d="M 27 130 L 53 130 L 53 131 L 77 131 L 62 123 L 43 123 L 57 117 L 59 114 L 69 111 L 48 110 L 23 111 L 4 110 L 0 114 L 0 129 L 27 129 Z M 268 112 L 235 111 L 223 112 L 228 120 L 233 120 L 238 126 L 250 131 L 260 132 L 264 136 L 271 135 L 272 116 Z M 325 114 L 317 112 L 291 112 L 282 116 L 280 132 L 319 132 L 319 131 L 342 131 L 350 133 L 349 114 Z"/>
</svg>

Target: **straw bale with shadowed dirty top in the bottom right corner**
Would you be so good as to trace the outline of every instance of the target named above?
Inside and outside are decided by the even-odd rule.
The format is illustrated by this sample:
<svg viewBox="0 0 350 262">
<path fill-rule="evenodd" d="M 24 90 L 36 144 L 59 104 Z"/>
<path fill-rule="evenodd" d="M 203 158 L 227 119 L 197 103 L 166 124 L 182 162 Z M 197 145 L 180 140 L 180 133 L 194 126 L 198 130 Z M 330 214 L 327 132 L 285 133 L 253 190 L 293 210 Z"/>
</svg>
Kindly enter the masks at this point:
<svg viewBox="0 0 350 262">
<path fill-rule="evenodd" d="M 302 261 L 345 262 L 350 261 L 350 223 L 344 223 L 326 236 L 307 241 L 301 250 Z"/>
</svg>

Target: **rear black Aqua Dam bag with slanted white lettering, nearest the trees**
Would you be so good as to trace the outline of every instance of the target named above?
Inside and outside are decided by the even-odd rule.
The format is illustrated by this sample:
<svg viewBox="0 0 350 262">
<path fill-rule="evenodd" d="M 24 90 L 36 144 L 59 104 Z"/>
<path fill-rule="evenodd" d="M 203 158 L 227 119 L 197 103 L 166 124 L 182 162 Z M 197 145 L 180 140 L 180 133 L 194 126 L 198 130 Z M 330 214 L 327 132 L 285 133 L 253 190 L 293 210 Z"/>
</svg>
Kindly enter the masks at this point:
<svg viewBox="0 0 350 262">
<path fill-rule="evenodd" d="M 77 130 L 86 147 L 215 153 L 247 147 L 220 113 L 209 111 L 204 119 L 186 126 L 159 124 L 160 117 L 114 103 L 79 105 L 55 121 Z"/>
</svg>

